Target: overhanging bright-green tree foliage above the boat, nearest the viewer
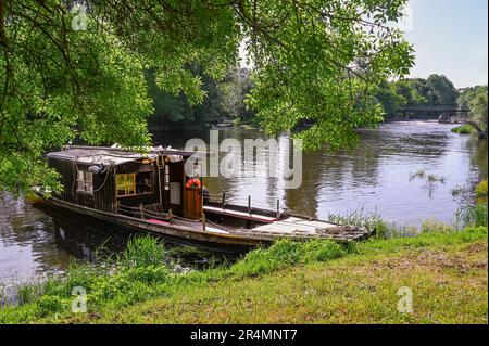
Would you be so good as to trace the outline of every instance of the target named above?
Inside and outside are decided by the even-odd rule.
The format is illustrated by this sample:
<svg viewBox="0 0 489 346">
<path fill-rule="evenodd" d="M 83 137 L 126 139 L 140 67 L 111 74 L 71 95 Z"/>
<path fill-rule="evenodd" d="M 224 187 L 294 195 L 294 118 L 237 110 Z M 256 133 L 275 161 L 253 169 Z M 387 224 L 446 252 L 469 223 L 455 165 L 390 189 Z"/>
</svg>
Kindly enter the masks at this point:
<svg viewBox="0 0 489 346">
<path fill-rule="evenodd" d="M 72 1 L 0 0 L 0 185 L 53 185 L 42 155 L 76 137 L 149 143 L 145 71 L 163 92 L 200 104 L 202 75 L 225 77 L 241 42 L 253 65 L 248 103 L 268 133 L 308 119 L 297 134 L 306 148 L 351 145 L 355 127 L 380 119 L 376 86 L 413 63 L 389 25 L 404 3 L 91 0 L 84 13 Z"/>
</svg>

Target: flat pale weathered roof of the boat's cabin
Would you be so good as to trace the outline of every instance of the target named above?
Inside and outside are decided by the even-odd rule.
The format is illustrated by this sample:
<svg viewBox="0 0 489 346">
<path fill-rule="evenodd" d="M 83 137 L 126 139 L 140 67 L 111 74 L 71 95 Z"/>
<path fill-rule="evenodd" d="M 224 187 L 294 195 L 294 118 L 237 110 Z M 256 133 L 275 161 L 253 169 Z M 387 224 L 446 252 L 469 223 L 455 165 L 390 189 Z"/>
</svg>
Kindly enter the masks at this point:
<svg viewBox="0 0 489 346">
<path fill-rule="evenodd" d="M 204 157 L 209 153 L 190 152 L 172 148 L 152 146 L 146 148 L 146 153 L 138 153 L 133 150 L 118 146 L 88 146 L 88 145 L 65 145 L 62 151 L 49 153 L 49 158 L 71 161 L 88 165 L 123 165 L 126 163 L 151 158 L 158 156 L 173 156 L 179 161 L 181 157 L 198 156 Z"/>
</svg>

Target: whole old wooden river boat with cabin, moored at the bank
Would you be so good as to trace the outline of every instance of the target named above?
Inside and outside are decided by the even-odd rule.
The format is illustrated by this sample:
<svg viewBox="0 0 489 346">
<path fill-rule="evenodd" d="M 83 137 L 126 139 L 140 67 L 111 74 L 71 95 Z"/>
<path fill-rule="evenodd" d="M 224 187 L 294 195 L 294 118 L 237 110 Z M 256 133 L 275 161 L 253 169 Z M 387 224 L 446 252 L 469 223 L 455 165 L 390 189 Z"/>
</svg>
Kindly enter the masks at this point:
<svg viewBox="0 0 489 346">
<path fill-rule="evenodd" d="M 289 212 L 226 203 L 205 193 L 185 174 L 185 164 L 208 153 L 152 148 L 140 154 L 118 148 L 68 145 L 49 153 L 64 187 L 51 206 L 124 228 L 153 232 L 171 242 L 236 253 L 277 239 L 365 239 L 361 228 Z"/>
</svg>

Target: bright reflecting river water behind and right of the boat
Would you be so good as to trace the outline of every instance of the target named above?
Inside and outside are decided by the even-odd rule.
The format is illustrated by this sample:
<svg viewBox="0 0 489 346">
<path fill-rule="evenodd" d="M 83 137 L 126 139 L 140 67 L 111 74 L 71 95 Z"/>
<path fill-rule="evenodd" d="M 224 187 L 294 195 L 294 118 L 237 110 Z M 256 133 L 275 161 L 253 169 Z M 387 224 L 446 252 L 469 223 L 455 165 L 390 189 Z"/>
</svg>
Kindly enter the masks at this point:
<svg viewBox="0 0 489 346">
<path fill-rule="evenodd" d="M 246 203 L 248 195 L 258 206 L 275 208 L 276 200 L 289 209 L 327 218 L 329 214 L 348 214 L 364 209 L 381 214 L 398 223 L 419 225 L 426 218 L 450 222 L 460 206 L 452 191 L 471 190 L 487 177 L 487 141 L 451 132 L 450 125 L 406 121 L 386 124 L 377 130 L 360 130 L 360 145 L 335 154 L 306 153 L 303 157 L 302 187 L 284 190 L 283 181 L 251 175 L 234 178 L 208 178 L 211 193 L 226 191 L 231 202 Z M 155 137 L 156 144 L 179 143 L 209 132 L 172 132 Z M 222 130 L 220 139 L 266 137 L 256 130 Z M 288 141 L 283 136 L 279 143 Z M 284 145 L 276 159 L 284 162 Z M 266 169 L 256 163 L 258 170 Z M 247 167 L 247 166 L 246 166 Z M 444 178 L 427 189 L 424 181 L 411 181 L 417 170 Z M 247 171 L 247 170 L 246 170 Z M 247 171 L 249 172 L 249 171 Z"/>
</svg>

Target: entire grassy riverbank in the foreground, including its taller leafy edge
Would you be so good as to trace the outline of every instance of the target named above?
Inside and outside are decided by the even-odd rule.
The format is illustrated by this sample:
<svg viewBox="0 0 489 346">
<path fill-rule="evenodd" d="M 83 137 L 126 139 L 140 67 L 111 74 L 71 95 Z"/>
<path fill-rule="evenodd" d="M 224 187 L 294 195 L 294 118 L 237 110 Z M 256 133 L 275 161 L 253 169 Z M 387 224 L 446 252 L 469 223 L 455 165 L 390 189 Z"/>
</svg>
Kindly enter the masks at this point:
<svg viewBox="0 0 489 346">
<path fill-rule="evenodd" d="M 65 280 L 25 287 L 0 323 L 487 323 L 487 226 L 431 223 L 415 238 L 348 246 L 280 241 L 231 266 L 176 273 L 145 238 L 116 270 L 73 267 Z M 88 313 L 71 311 L 80 286 Z M 397 310 L 404 286 L 413 313 Z"/>
</svg>

